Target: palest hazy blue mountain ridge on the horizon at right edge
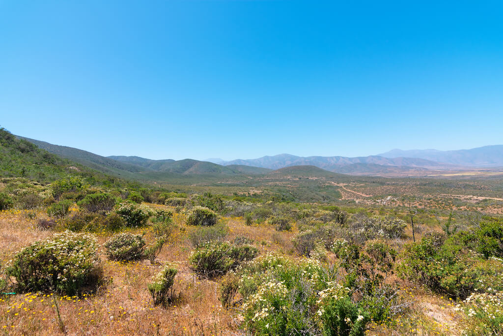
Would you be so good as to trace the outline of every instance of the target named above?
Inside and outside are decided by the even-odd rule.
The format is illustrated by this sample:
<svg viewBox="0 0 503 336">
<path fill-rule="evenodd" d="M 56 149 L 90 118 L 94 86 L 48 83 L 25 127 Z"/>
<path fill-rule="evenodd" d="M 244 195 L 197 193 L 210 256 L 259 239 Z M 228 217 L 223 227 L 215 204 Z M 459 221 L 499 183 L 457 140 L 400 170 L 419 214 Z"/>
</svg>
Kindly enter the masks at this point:
<svg viewBox="0 0 503 336">
<path fill-rule="evenodd" d="M 503 145 L 483 146 L 456 151 L 394 149 L 379 154 L 386 158 L 406 156 L 465 167 L 503 167 Z"/>
</svg>

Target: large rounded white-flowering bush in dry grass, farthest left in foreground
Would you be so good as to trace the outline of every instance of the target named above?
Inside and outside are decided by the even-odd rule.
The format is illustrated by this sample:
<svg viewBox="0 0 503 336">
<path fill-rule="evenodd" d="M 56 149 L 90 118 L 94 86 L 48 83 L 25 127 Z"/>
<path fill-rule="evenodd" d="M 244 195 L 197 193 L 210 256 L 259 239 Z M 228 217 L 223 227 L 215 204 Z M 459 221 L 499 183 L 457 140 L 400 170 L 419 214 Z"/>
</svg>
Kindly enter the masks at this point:
<svg viewBox="0 0 503 336">
<path fill-rule="evenodd" d="M 73 295 L 94 286 L 101 275 L 96 237 L 65 231 L 23 248 L 7 266 L 20 291 Z"/>
</svg>

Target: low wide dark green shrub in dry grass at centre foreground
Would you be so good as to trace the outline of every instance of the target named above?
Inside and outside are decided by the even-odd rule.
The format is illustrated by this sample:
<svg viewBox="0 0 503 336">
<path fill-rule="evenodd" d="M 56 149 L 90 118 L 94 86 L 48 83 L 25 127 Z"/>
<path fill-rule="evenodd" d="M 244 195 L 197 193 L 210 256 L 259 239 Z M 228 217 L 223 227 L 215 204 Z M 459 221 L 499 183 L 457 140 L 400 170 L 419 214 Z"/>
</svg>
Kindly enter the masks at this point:
<svg viewBox="0 0 503 336">
<path fill-rule="evenodd" d="M 189 262 L 198 274 L 214 278 L 226 274 L 245 260 L 255 258 L 258 253 L 259 250 L 253 246 L 210 242 L 193 251 Z"/>
</svg>

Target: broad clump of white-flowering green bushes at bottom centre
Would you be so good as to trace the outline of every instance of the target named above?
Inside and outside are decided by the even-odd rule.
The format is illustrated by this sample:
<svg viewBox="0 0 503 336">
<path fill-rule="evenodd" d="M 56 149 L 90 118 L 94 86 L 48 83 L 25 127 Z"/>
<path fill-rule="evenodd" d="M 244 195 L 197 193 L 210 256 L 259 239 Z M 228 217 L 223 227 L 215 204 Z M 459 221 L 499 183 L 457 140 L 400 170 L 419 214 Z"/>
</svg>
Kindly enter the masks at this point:
<svg viewBox="0 0 503 336">
<path fill-rule="evenodd" d="M 268 253 L 231 273 L 221 289 L 233 295 L 239 278 L 243 325 L 252 334 L 363 335 L 371 319 L 366 302 L 353 299 L 358 289 L 336 283 L 337 273 L 317 259 Z"/>
</svg>

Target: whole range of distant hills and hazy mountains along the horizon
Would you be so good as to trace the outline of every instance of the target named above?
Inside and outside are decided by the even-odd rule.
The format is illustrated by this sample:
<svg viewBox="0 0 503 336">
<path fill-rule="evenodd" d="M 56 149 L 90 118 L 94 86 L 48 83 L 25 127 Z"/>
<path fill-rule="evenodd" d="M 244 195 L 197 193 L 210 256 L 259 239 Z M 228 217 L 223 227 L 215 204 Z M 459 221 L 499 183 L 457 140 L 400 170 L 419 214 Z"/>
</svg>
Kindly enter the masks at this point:
<svg viewBox="0 0 503 336">
<path fill-rule="evenodd" d="M 175 174 L 267 174 L 293 166 L 312 166 L 326 171 L 350 175 L 376 176 L 428 176 L 432 171 L 463 170 L 468 167 L 503 167 L 503 146 L 486 146 L 471 150 L 392 150 L 366 157 L 310 156 L 290 154 L 264 156 L 258 159 L 223 161 L 218 158 L 198 161 L 150 160 L 138 156 L 103 157 L 76 148 L 52 145 L 43 141 L 23 138 L 50 153 L 71 159 L 105 173 L 135 178 L 140 173 L 150 178 L 162 173 Z M 213 162 L 210 162 L 213 161 Z"/>
</svg>

